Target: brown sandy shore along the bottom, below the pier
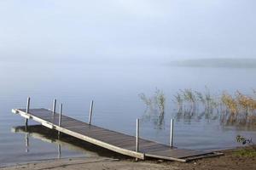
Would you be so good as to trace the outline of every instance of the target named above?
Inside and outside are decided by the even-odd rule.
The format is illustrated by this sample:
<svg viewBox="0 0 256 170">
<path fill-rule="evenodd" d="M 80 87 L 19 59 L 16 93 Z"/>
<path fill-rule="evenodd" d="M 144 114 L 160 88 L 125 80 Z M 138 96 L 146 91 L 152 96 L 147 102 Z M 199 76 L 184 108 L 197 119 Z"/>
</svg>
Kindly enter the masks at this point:
<svg viewBox="0 0 256 170">
<path fill-rule="evenodd" d="M 70 158 L 51 161 L 38 161 L 33 163 L 18 164 L 10 167 L 0 167 L 1 170 L 35 169 L 35 170 L 114 170 L 114 169 L 147 169 L 147 170 L 230 170 L 230 169 L 256 169 L 256 157 L 237 156 L 236 150 L 224 150 L 224 156 L 212 157 L 191 161 L 188 163 L 176 161 L 134 161 L 133 159 L 113 159 L 107 157 Z"/>
</svg>

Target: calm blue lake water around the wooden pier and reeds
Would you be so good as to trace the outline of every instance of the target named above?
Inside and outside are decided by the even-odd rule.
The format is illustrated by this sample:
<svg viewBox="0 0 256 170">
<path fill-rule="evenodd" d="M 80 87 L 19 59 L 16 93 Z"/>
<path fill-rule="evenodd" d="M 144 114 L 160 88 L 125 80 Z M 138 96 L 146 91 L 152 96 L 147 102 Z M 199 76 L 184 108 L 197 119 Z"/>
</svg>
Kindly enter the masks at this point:
<svg viewBox="0 0 256 170">
<path fill-rule="evenodd" d="M 170 119 L 177 114 L 172 99 L 179 89 L 203 91 L 207 86 L 212 94 L 224 90 L 234 93 L 237 89 L 252 94 L 252 88 L 256 88 L 256 69 L 1 62 L 0 70 L 0 166 L 58 158 L 60 145 L 61 157 L 100 154 L 38 133 L 15 133 L 18 131 L 15 128 L 24 125 L 24 119 L 12 114 L 11 109 L 25 108 L 27 96 L 31 97 L 32 108 L 51 108 L 56 98 L 58 104 L 63 104 L 64 114 L 84 122 L 88 120 L 90 100 L 94 99 L 93 124 L 134 135 L 136 119 L 142 118 L 146 109 L 138 94 L 152 96 L 158 88 L 166 96 L 163 124 L 156 127 L 153 122 L 143 120 L 141 135 L 168 144 Z M 33 124 L 36 123 L 29 122 Z M 218 119 L 175 119 L 177 147 L 230 148 L 238 145 L 237 134 L 256 140 L 255 129 L 223 126 Z"/>
</svg>

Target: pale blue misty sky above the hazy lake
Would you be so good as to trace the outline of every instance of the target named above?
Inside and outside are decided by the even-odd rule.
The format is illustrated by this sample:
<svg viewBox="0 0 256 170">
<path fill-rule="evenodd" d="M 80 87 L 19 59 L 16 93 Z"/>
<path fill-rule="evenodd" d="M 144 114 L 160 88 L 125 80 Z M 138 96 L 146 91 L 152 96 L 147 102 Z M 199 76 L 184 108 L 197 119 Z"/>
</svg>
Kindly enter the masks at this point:
<svg viewBox="0 0 256 170">
<path fill-rule="evenodd" d="M 1 0 L 1 60 L 256 58 L 255 0 Z"/>
</svg>

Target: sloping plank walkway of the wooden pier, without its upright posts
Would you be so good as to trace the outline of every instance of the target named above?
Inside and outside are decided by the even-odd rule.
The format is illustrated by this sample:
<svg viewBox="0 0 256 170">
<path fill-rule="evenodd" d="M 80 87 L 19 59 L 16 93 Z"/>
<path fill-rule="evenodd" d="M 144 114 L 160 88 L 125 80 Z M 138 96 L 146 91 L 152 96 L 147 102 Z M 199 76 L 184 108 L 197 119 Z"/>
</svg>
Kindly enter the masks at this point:
<svg viewBox="0 0 256 170">
<path fill-rule="evenodd" d="M 139 139 L 139 150 L 137 151 L 136 138 L 131 135 L 96 127 L 62 114 L 60 125 L 59 113 L 46 109 L 30 109 L 29 111 L 26 111 L 26 109 L 13 109 L 12 112 L 61 133 L 67 133 L 91 144 L 142 160 L 147 157 L 153 157 L 172 161 L 191 161 L 202 157 L 221 155 L 211 151 L 177 149 L 147 139 Z"/>
</svg>

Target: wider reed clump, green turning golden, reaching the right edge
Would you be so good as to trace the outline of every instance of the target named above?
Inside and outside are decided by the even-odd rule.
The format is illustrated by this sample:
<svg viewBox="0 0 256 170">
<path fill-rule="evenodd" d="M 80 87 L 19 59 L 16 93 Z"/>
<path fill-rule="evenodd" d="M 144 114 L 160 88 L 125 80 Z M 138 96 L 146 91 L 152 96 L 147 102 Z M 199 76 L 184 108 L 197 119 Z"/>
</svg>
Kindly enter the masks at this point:
<svg viewBox="0 0 256 170">
<path fill-rule="evenodd" d="M 255 91 L 253 91 L 255 94 Z M 236 91 L 231 95 L 224 92 L 212 95 L 208 88 L 201 93 L 192 89 L 179 90 L 174 96 L 177 118 L 217 119 L 225 125 L 256 126 L 256 99 Z"/>
</svg>

